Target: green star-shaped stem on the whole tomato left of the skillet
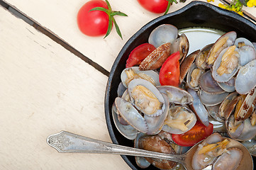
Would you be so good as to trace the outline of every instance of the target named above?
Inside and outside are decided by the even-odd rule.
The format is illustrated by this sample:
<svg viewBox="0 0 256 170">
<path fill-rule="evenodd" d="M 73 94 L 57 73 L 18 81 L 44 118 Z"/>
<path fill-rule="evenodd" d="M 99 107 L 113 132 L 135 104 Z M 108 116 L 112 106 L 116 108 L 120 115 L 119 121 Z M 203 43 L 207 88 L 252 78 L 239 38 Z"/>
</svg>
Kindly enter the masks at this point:
<svg viewBox="0 0 256 170">
<path fill-rule="evenodd" d="M 112 27 L 113 27 L 113 23 L 114 23 L 114 25 L 116 27 L 116 32 L 123 40 L 121 30 L 119 29 L 118 24 L 116 23 L 116 20 L 115 20 L 115 18 L 113 18 L 113 16 L 127 16 L 127 15 L 126 15 L 126 13 L 122 13 L 120 11 L 112 11 L 112 8 L 111 8 L 108 0 L 105 0 L 105 1 L 106 1 L 106 5 L 108 6 L 108 9 L 103 8 L 103 7 L 96 7 L 96 8 L 92 8 L 90 11 L 104 11 L 106 14 L 108 14 L 108 30 L 106 31 L 106 35 L 104 38 L 106 38 L 110 34 Z"/>
</svg>

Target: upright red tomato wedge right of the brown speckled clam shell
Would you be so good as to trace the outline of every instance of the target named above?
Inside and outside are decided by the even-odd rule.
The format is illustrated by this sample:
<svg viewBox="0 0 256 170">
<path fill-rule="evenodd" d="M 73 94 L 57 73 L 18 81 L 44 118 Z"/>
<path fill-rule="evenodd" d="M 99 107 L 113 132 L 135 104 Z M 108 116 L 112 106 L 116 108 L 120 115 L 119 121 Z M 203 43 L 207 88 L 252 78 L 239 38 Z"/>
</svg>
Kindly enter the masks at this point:
<svg viewBox="0 0 256 170">
<path fill-rule="evenodd" d="M 162 64 L 159 73 L 162 86 L 179 86 L 179 57 L 179 52 L 174 52 Z"/>
</svg>

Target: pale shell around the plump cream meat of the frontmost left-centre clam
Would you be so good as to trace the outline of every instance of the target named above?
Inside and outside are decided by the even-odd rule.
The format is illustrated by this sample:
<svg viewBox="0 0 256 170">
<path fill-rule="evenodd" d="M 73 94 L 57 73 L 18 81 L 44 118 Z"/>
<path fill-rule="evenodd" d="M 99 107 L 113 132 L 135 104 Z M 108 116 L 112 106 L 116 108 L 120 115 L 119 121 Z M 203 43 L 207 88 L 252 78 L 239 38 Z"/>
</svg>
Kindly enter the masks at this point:
<svg viewBox="0 0 256 170">
<path fill-rule="evenodd" d="M 165 111 L 165 99 L 163 98 L 162 94 L 160 94 L 160 91 L 157 90 L 157 88 L 151 84 L 149 81 L 146 81 L 145 79 L 133 79 L 132 81 L 130 81 L 130 84 L 128 85 L 128 93 L 130 95 L 130 101 L 131 103 L 133 103 L 133 105 L 138 108 L 139 111 L 141 112 L 145 112 L 143 110 L 143 108 L 140 108 L 140 106 L 138 106 L 136 103 L 135 103 L 135 98 L 133 98 L 133 89 L 138 86 L 138 85 L 141 85 L 141 86 L 145 86 L 146 89 L 150 90 L 152 92 L 152 94 L 154 94 L 158 101 L 160 101 L 160 103 L 162 103 L 162 108 L 161 109 L 158 109 L 154 114 L 152 115 L 149 115 L 149 116 L 157 116 L 157 115 L 161 115 L 164 111 Z M 143 103 L 143 102 L 141 102 Z M 147 114 L 147 113 L 145 113 Z"/>
</svg>

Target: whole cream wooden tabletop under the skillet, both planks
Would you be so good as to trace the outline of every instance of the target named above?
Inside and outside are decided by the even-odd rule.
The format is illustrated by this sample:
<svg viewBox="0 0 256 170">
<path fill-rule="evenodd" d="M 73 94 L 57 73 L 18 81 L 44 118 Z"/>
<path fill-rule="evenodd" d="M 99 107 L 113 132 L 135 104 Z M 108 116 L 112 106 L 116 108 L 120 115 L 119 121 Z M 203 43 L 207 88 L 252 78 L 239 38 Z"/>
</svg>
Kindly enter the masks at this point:
<svg viewBox="0 0 256 170">
<path fill-rule="evenodd" d="M 114 10 L 128 15 L 116 17 L 123 40 L 114 30 L 108 38 L 90 38 L 76 23 L 85 2 L 1 0 L 0 169 L 130 169 L 118 155 L 60 154 L 46 143 L 60 130 L 111 142 L 104 116 L 107 74 L 126 41 L 160 16 L 135 0 L 110 0 Z M 255 8 L 245 10 L 256 16 Z"/>
</svg>

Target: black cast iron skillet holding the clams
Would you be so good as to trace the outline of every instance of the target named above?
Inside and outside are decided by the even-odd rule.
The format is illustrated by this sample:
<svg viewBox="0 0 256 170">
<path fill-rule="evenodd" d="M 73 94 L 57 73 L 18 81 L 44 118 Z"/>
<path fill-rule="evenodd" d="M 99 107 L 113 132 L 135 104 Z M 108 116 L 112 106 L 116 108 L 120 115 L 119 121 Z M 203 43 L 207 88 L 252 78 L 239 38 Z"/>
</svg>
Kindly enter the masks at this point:
<svg viewBox="0 0 256 170">
<path fill-rule="evenodd" d="M 148 42 L 148 36 L 154 28 L 165 23 L 172 24 L 178 29 L 206 27 L 216 28 L 224 32 L 234 30 L 238 34 L 238 37 L 244 37 L 251 42 L 256 42 L 256 25 L 251 21 L 248 21 L 237 13 L 226 11 L 222 8 L 218 8 L 201 1 L 192 1 L 179 11 L 169 13 L 165 16 L 160 16 L 143 26 L 143 28 L 138 30 L 138 32 L 135 33 L 128 42 L 126 42 L 126 45 L 123 46 L 121 52 L 113 63 L 113 67 L 108 77 L 105 95 L 105 115 L 108 132 L 111 136 L 112 142 L 115 144 L 133 147 L 133 141 L 123 137 L 123 135 L 121 135 L 121 133 L 116 129 L 111 113 L 112 104 L 117 96 L 116 91 L 118 89 L 118 84 L 121 82 L 120 75 L 123 69 L 125 69 L 128 55 L 138 45 Z M 131 169 L 140 169 L 135 163 L 134 157 L 121 157 L 123 157 Z M 148 169 L 157 168 L 151 165 Z"/>
</svg>

